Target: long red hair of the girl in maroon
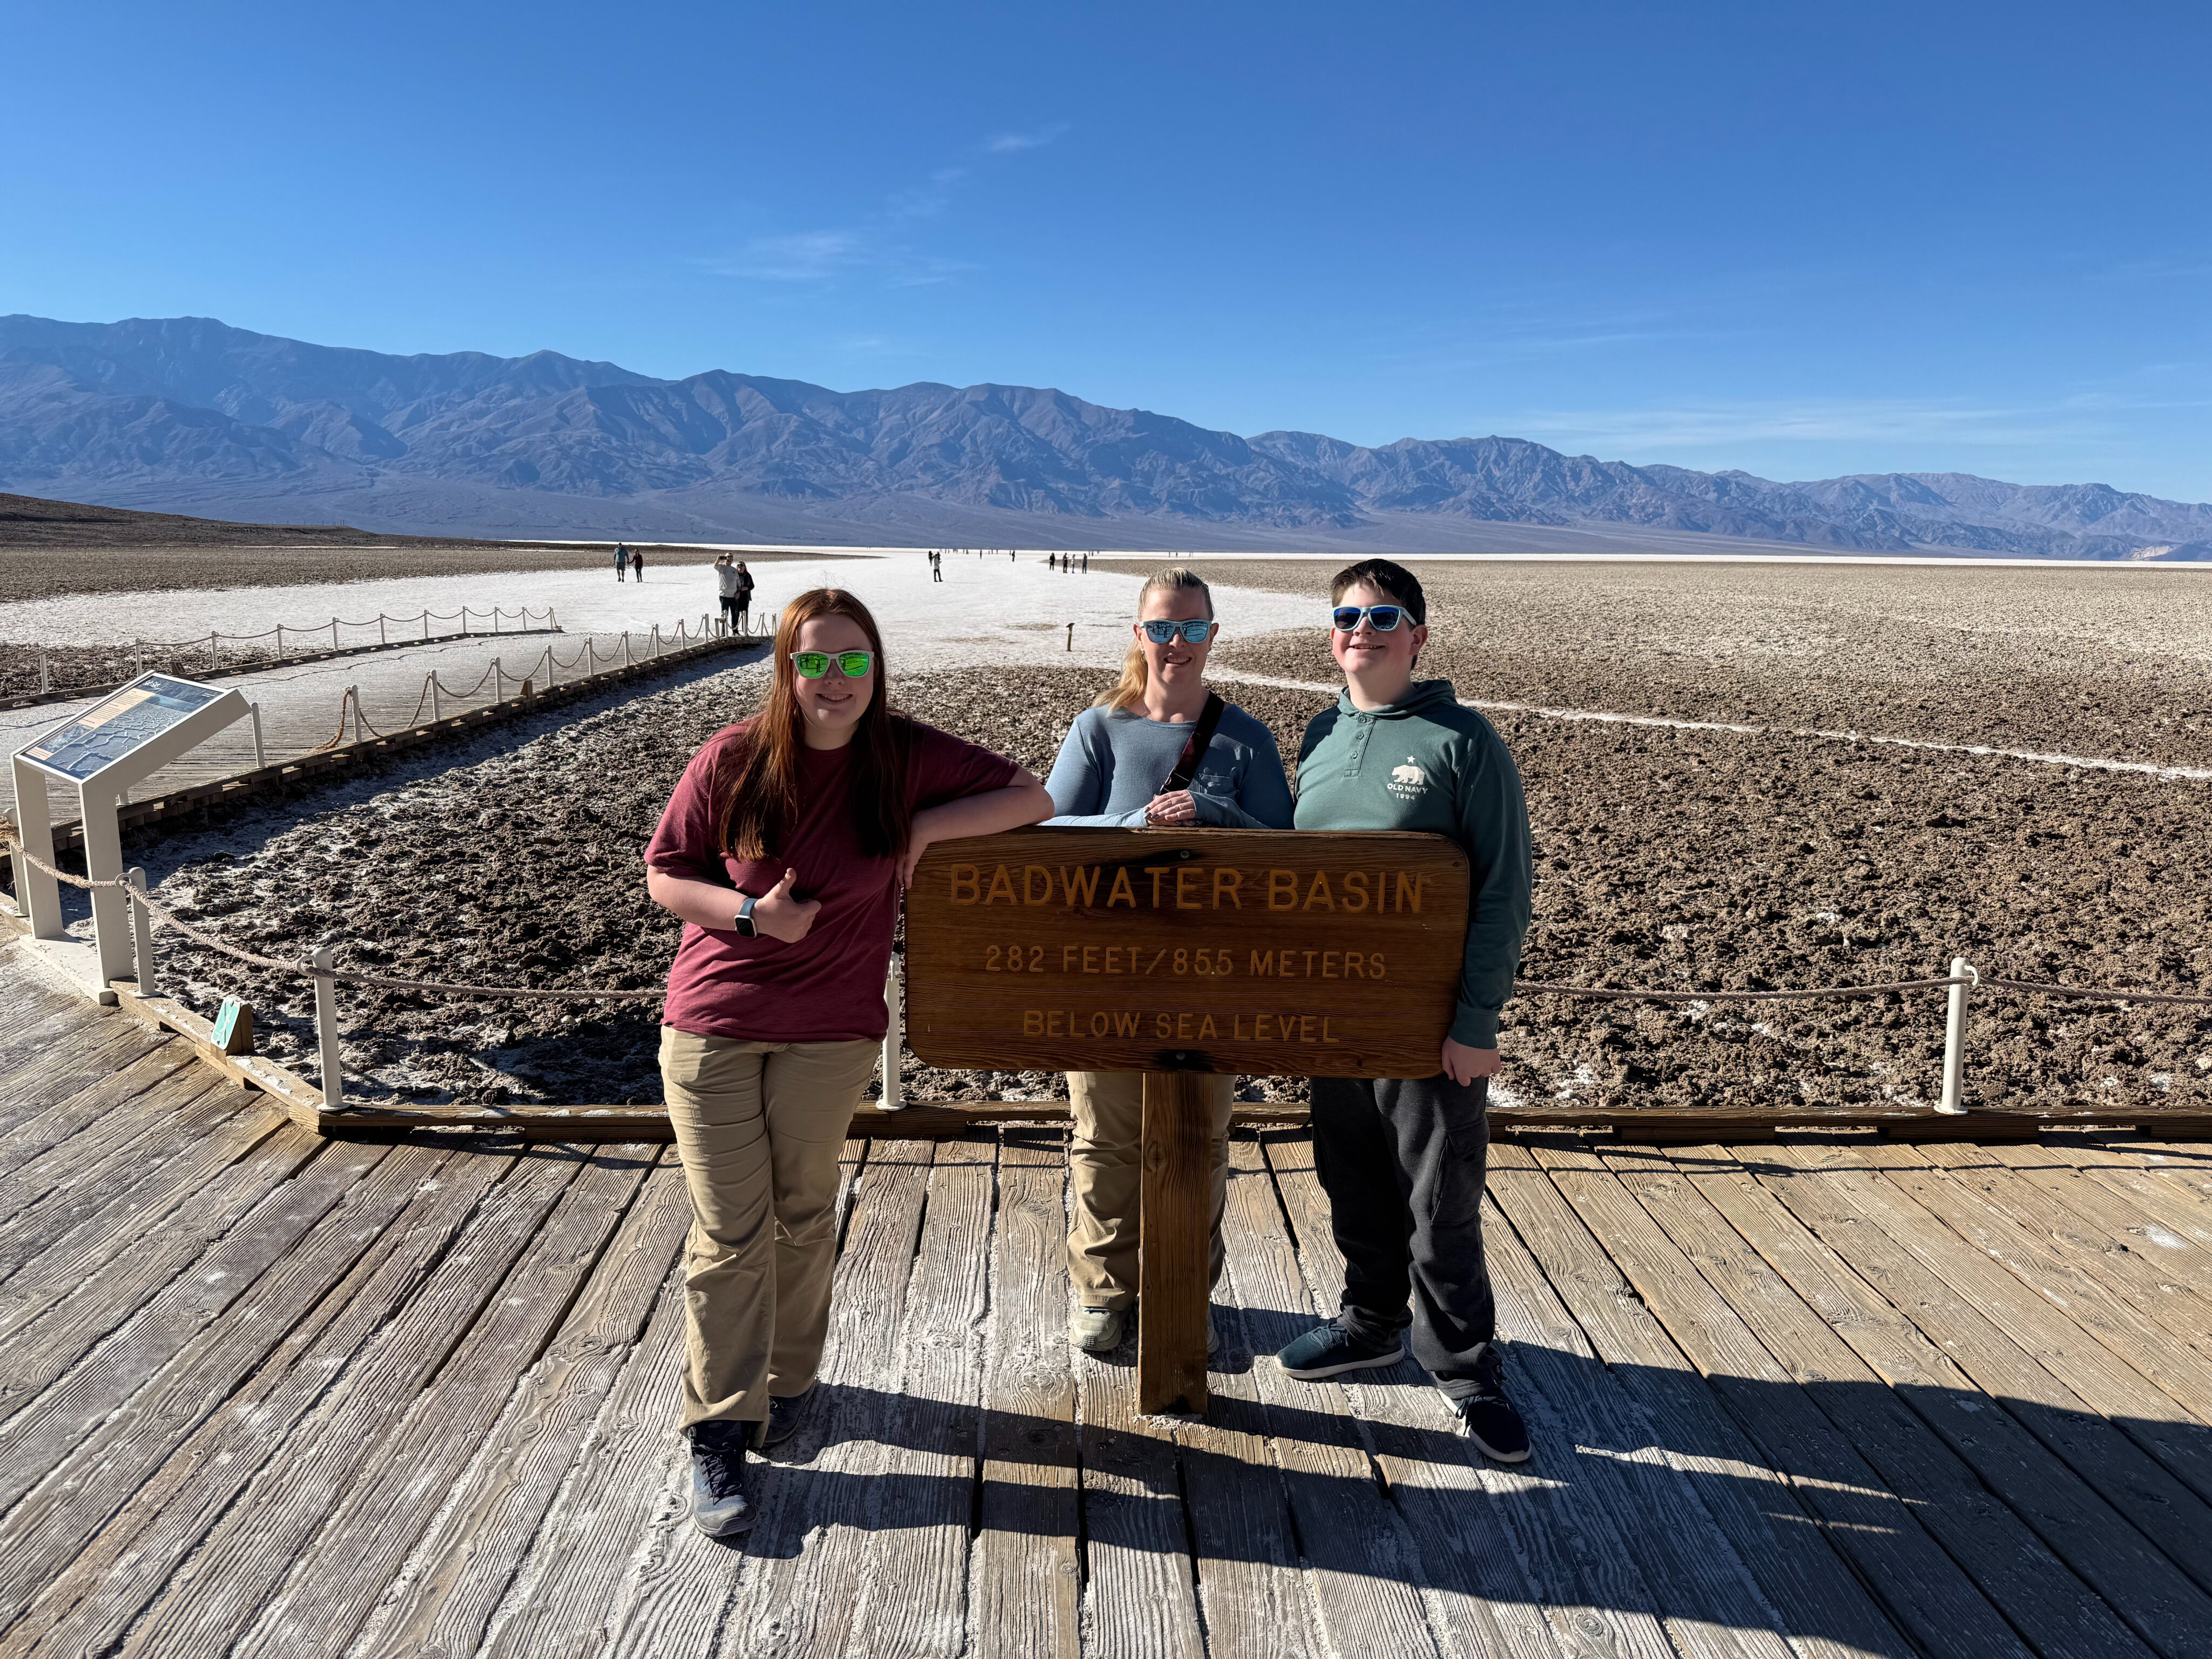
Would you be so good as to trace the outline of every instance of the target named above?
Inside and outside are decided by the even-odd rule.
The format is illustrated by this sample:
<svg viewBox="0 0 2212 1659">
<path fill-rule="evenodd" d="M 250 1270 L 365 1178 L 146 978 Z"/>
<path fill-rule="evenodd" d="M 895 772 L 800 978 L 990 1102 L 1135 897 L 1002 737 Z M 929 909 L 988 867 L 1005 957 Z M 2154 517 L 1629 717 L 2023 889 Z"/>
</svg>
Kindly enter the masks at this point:
<svg viewBox="0 0 2212 1659">
<path fill-rule="evenodd" d="M 752 719 L 750 741 L 728 772 L 721 796 L 721 849 L 730 858 L 781 858 L 783 838 L 799 823 L 799 752 L 805 748 L 799 695 L 792 686 L 792 650 L 799 630 L 814 617 L 849 617 L 876 653 L 876 686 L 852 734 L 852 818 L 860 852 L 891 858 L 907 849 L 914 814 L 907 810 L 907 750 L 914 728 L 891 710 L 889 675 L 883 666 L 883 633 L 845 588 L 801 593 L 776 622 L 776 664 L 768 703 Z"/>
</svg>

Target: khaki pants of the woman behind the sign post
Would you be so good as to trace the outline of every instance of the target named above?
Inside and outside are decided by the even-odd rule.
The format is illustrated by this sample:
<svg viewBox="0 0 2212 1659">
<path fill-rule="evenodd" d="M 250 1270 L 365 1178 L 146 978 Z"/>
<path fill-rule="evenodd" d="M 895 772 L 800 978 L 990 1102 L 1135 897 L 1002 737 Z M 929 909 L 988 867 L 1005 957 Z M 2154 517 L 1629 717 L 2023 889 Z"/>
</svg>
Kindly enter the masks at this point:
<svg viewBox="0 0 2212 1659">
<path fill-rule="evenodd" d="M 1230 1106 L 1237 1079 L 1208 1073 L 1203 1093 L 1212 1135 L 1212 1263 L 1221 1279 L 1221 1206 L 1230 1190 Z M 1068 1186 L 1075 1228 L 1068 1232 L 1068 1281 L 1077 1307 L 1124 1310 L 1137 1301 L 1137 1208 L 1144 1197 L 1144 1073 L 1071 1071 Z"/>
</svg>

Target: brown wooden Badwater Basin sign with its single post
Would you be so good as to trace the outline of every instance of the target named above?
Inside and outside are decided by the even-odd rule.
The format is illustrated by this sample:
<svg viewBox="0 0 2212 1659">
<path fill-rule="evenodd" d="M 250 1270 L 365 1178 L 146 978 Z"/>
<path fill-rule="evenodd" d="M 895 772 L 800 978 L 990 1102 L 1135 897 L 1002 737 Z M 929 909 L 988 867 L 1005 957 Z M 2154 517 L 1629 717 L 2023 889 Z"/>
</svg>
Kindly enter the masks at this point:
<svg viewBox="0 0 2212 1659">
<path fill-rule="evenodd" d="M 916 1055 L 1146 1075 L 1141 1411 L 1206 1409 L 1194 1073 L 1436 1075 L 1467 896 L 1467 856 L 1425 834 L 1015 830 L 922 856 L 907 894 Z"/>
</svg>

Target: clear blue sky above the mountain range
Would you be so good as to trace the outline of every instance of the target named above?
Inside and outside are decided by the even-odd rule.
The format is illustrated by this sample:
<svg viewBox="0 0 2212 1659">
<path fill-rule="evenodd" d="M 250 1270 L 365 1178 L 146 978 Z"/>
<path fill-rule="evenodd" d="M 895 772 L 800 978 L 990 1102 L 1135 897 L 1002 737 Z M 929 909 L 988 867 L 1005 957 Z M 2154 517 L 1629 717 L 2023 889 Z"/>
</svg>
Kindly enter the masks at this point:
<svg viewBox="0 0 2212 1659">
<path fill-rule="evenodd" d="M 9 7 L 0 312 L 2212 500 L 2212 7 Z"/>
</svg>

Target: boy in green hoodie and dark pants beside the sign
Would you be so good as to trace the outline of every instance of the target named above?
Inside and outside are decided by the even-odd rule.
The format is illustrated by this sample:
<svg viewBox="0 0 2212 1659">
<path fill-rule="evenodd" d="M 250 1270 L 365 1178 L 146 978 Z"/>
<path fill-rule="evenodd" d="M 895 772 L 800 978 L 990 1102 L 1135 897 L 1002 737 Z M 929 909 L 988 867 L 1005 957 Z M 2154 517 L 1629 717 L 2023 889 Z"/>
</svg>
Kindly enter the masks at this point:
<svg viewBox="0 0 2212 1659">
<path fill-rule="evenodd" d="M 1528 807 L 1513 757 L 1447 679 L 1413 679 L 1429 606 L 1411 571 L 1365 560 L 1329 586 L 1336 708 L 1298 745 L 1298 830 L 1433 830 L 1471 865 L 1460 1000 L 1433 1077 L 1314 1077 L 1314 1164 L 1345 1252 L 1334 1321 L 1279 1354 L 1290 1376 L 1396 1365 L 1400 1332 L 1464 1433 L 1500 1462 L 1528 1455 L 1491 1347 L 1482 1261 L 1489 1079 L 1498 1011 L 1528 931 Z"/>
</svg>

